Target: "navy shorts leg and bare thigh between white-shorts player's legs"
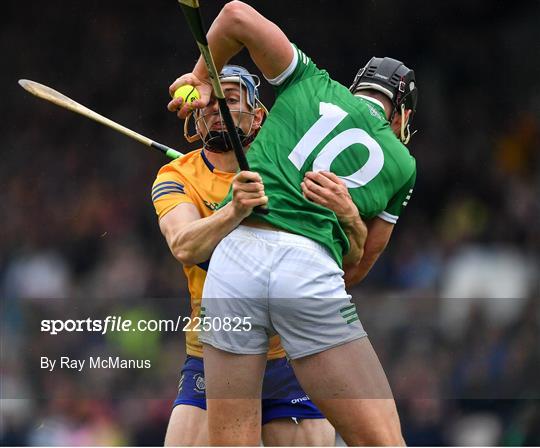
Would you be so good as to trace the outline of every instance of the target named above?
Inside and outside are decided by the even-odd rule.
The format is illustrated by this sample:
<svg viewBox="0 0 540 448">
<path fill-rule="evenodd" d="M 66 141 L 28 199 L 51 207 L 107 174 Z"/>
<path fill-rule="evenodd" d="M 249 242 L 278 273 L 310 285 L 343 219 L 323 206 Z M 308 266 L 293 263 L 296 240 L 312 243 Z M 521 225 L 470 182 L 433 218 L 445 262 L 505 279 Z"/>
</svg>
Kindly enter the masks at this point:
<svg viewBox="0 0 540 448">
<path fill-rule="evenodd" d="M 334 427 L 304 392 L 285 357 L 266 362 L 262 437 L 265 446 L 333 446 Z"/>
</svg>

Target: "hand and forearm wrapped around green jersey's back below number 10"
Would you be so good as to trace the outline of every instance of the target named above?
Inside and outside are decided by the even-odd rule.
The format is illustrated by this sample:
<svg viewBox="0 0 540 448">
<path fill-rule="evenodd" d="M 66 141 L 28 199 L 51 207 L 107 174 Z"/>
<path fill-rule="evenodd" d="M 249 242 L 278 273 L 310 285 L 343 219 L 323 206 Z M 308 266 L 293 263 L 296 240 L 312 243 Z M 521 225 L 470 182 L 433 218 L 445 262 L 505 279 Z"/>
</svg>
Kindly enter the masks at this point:
<svg viewBox="0 0 540 448">
<path fill-rule="evenodd" d="M 356 268 L 364 256 L 367 229 L 345 183 L 328 171 L 307 172 L 301 187 L 307 199 L 336 214 L 350 244 L 343 268 L 345 272 Z"/>
</svg>

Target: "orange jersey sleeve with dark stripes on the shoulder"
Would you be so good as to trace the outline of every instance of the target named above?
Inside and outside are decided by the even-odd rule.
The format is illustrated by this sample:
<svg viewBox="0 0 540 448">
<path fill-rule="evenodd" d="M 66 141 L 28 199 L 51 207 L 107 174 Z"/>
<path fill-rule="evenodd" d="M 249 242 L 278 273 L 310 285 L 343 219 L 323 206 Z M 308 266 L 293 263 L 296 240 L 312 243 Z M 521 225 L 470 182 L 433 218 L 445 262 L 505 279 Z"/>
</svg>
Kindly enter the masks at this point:
<svg viewBox="0 0 540 448">
<path fill-rule="evenodd" d="M 152 185 L 152 203 L 161 219 L 183 203 L 194 204 L 189 196 L 189 185 L 182 175 L 169 165 L 162 167 Z"/>
</svg>

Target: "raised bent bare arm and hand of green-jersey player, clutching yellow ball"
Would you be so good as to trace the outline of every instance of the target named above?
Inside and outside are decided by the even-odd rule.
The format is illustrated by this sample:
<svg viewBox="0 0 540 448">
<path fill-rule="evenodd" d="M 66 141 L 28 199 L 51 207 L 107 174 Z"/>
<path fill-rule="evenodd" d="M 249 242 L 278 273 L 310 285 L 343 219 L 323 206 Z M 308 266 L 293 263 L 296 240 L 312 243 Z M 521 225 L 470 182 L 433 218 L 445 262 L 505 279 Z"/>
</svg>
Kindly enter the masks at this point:
<svg viewBox="0 0 540 448">
<path fill-rule="evenodd" d="M 281 75 L 294 58 L 292 45 L 283 31 L 254 8 L 240 1 L 232 1 L 223 7 L 208 31 L 207 39 L 218 72 L 244 47 L 267 79 Z M 170 86 L 171 96 L 185 84 L 197 87 L 201 93 L 201 99 L 191 105 L 195 108 L 204 107 L 209 100 L 211 84 L 202 56 L 192 73 L 181 76 Z M 177 111 L 181 105 L 182 100 L 179 98 L 172 100 L 167 107 L 170 111 Z M 184 105 L 179 116 L 185 118 L 189 111 L 189 105 Z"/>
</svg>

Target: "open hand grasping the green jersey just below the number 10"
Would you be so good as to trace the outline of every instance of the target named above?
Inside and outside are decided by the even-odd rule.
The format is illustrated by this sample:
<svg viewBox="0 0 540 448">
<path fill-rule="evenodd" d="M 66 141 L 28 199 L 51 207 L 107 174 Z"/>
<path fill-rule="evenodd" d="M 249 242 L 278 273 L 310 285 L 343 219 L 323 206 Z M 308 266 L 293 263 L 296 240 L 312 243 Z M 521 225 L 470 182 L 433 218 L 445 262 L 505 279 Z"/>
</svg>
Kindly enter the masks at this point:
<svg viewBox="0 0 540 448">
<path fill-rule="evenodd" d="M 301 184 L 304 196 L 332 210 L 343 226 L 353 225 L 360 217 L 345 182 L 329 171 L 308 171 Z"/>
</svg>

